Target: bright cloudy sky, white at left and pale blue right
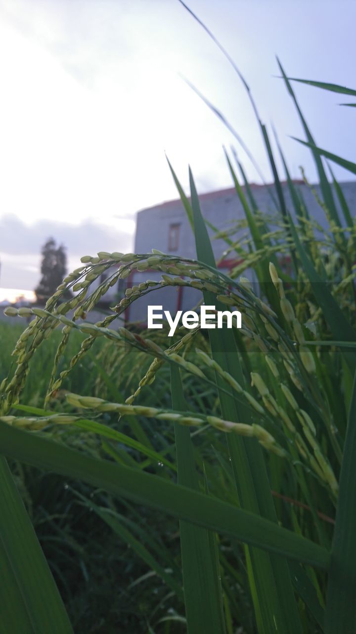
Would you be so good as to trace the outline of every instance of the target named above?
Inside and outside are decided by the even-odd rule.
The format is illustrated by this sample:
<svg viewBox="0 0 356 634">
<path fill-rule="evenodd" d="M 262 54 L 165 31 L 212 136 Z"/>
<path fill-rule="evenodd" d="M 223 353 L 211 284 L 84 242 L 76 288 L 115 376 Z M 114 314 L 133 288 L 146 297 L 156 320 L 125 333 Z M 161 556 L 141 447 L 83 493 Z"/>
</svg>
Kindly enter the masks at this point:
<svg viewBox="0 0 356 634">
<path fill-rule="evenodd" d="M 291 77 L 356 86 L 356 4 L 348 0 L 190 0 L 276 127 L 293 177 L 315 169 L 276 55 Z M 250 101 L 228 61 L 178 0 L 0 0 L 0 287 L 33 289 L 49 236 L 80 256 L 133 248 L 136 212 L 230 187 L 231 133 L 184 82 L 224 113 L 271 180 Z M 295 84 L 317 143 L 353 160 L 355 109 Z M 335 169 L 341 180 L 350 179 Z M 154 247 L 154 245 L 152 245 Z M 4 295 L 4 292 L 3 292 Z M 0 292 L 0 299 L 1 299 Z"/>
</svg>

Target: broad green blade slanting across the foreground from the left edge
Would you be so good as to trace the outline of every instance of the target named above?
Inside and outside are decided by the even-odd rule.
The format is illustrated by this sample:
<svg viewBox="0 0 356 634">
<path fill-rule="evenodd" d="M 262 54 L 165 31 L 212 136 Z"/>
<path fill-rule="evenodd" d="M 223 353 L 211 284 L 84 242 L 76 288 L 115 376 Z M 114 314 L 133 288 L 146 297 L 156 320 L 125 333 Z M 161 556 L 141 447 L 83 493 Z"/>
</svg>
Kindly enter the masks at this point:
<svg viewBox="0 0 356 634">
<path fill-rule="evenodd" d="M 329 553 L 273 522 L 197 491 L 107 460 L 87 456 L 34 432 L 0 422 L 1 451 L 42 470 L 80 479 L 113 495 L 158 508 L 174 517 L 240 541 L 326 569 Z"/>
</svg>

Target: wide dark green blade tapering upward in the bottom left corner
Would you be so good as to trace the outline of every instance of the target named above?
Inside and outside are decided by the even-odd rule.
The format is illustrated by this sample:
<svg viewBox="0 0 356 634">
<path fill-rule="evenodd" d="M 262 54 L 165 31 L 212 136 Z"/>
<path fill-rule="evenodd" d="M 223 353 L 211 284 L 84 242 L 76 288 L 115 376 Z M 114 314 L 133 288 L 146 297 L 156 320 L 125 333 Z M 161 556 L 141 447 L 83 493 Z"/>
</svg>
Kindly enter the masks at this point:
<svg viewBox="0 0 356 634">
<path fill-rule="evenodd" d="M 0 591 L 0 631 L 4 634 L 73 634 L 60 593 L 3 456 L 0 456 L 0 479 L 1 586 L 8 586 Z M 4 576 L 6 569 L 11 571 L 9 578 Z M 13 602 L 5 602 L 10 597 Z M 10 624 L 11 629 L 6 629 Z"/>
</svg>

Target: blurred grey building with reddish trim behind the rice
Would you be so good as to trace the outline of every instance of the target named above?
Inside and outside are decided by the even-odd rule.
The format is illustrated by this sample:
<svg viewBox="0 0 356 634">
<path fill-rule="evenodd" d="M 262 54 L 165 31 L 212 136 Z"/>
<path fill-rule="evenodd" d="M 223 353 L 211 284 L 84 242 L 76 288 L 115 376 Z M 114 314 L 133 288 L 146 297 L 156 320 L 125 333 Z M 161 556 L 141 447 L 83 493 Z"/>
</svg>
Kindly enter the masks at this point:
<svg viewBox="0 0 356 634">
<path fill-rule="evenodd" d="M 327 220 L 324 210 L 318 204 L 310 188 L 303 181 L 293 182 L 310 217 L 319 223 L 322 228 L 326 228 Z M 274 185 L 251 184 L 250 188 L 258 209 L 266 214 L 267 219 L 275 217 L 276 205 L 272 198 L 273 196 L 276 197 Z M 286 206 L 293 214 L 294 207 L 288 184 L 282 183 L 282 188 Z M 315 185 L 314 188 L 319 197 L 321 197 L 319 185 Z M 342 190 L 354 217 L 356 212 L 356 181 L 342 183 Z M 244 223 L 245 212 L 234 188 L 205 193 L 200 195 L 199 199 L 201 212 L 207 221 L 208 233 L 212 238 L 216 232 L 211 226 L 214 226 L 217 231 L 225 231 L 234 227 L 237 221 L 241 221 L 241 224 Z M 243 236 L 248 238 L 246 226 L 236 231 L 234 240 L 243 238 Z M 225 240 L 221 238 L 213 239 L 212 247 L 215 259 L 219 261 L 219 268 L 222 271 L 228 273 L 232 266 L 236 266 L 236 254 L 229 254 L 224 257 L 227 247 Z M 170 200 L 137 213 L 134 252 L 141 254 L 150 253 L 152 248 L 159 249 L 167 254 L 196 258 L 193 231 L 181 200 Z M 160 279 L 160 273 L 134 271 L 127 282 L 130 285 L 134 285 L 148 278 L 158 280 Z M 130 321 L 144 321 L 148 304 L 163 304 L 163 308 L 170 310 L 171 313 L 179 309 L 186 311 L 193 308 L 200 297 L 199 291 L 187 287 L 168 287 L 165 290 L 154 290 L 146 297 L 136 300 L 130 306 L 129 311 L 127 311 L 126 317 Z"/>
</svg>

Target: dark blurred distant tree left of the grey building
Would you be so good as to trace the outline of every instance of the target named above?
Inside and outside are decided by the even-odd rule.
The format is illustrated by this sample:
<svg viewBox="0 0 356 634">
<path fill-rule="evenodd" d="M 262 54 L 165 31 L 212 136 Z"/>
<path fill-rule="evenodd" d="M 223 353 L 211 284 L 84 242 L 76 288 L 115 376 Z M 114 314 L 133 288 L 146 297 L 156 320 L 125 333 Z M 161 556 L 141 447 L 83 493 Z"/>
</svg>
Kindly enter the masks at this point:
<svg viewBox="0 0 356 634">
<path fill-rule="evenodd" d="M 35 294 L 38 301 L 46 301 L 67 275 L 67 256 L 65 247 L 57 247 L 53 238 L 48 238 L 42 247 L 41 280 Z"/>
</svg>

